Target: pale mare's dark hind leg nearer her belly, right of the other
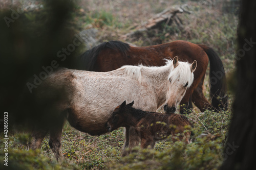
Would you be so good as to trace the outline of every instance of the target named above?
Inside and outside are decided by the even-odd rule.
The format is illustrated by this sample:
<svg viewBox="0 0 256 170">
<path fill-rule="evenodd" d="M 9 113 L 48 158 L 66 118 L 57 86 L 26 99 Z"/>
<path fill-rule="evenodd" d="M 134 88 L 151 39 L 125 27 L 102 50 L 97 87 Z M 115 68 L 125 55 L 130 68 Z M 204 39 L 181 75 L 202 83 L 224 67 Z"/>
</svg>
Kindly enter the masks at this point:
<svg viewBox="0 0 256 170">
<path fill-rule="evenodd" d="M 56 121 L 56 124 L 50 129 L 49 146 L 51 147 L 57 161 L 62 158 L 61 152 L 61 134 L 65 117 L 61 117 Z"/>
</svg>

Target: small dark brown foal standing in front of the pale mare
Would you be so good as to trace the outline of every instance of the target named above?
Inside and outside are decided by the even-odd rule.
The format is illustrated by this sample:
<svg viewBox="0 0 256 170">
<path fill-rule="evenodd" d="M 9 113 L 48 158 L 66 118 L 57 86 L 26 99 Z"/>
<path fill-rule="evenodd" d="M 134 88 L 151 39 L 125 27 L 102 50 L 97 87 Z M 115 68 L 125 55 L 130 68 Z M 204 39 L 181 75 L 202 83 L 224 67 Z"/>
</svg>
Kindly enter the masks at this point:
<svg viewBox="0 0 256 170">
<path fill-rule="evenodd" d="M 155 147 L 156 141 L 166 139 L 172 135 L 173 142 L 177 141 L 175 138 L 178 133 L 179 140 L 185 138 L 185 143 L 190 143 L 189 137 L 191 132 L 184 132 L 186 126 L 194 127 L 189 120 L 181 114 L 163 114 L 157 112 L 147 112 L 132 107 L 134 101 L 126 105 L 124 101 L 117 106 L 113 111 L 111 117 L 106 123 L 106 129 L 112 132 L 119 127 L 133 127 L 138 134 L 142 149 L 150 146 Z M 182 135 L 184 133 L 184 135 Z"/>
</svg>

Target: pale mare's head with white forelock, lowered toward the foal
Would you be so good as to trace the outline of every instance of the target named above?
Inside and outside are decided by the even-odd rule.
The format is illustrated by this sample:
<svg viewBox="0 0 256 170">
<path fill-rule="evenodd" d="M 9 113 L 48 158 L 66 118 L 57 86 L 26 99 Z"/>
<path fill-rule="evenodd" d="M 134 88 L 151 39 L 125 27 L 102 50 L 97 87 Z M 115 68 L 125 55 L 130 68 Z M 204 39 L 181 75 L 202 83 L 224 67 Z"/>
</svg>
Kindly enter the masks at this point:
<svg viewBox="0 0 256 170">
<path fill-rule="evenodd" d="M 196 60 L 192 64 L 188 64 L 187 62 L 179 62 L 177 56 L 172 62 L 172 70 L 168 76 L 167 100 L 164 105 L 166 113 L 174 113 L 176 111 L 177 106 L 185 95 L 186 89 L 193 83 L 193 72 L 197 67 Z"/>
</svg>

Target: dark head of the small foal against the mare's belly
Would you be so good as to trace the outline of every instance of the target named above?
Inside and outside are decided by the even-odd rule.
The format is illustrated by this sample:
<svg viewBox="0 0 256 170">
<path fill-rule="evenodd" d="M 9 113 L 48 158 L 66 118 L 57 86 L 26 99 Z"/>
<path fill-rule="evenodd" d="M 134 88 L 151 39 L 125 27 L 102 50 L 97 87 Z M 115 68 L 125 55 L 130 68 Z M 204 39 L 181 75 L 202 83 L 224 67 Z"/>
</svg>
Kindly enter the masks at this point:
<svg viewBox="0 0 256 170">
<path fill-rule="evenodd" d="M 125 113 L 129 111 L 127 109 L 132 108 L 133 104 L 134 102 L 126 105 L 126 101 L 124 101 L 121 105 L 115 108 L 111 117 L 106 123 L 106 129 L 108 129 L 109 132 L 125 126 L 125 119 L 127 118 Z"/>
</svg>

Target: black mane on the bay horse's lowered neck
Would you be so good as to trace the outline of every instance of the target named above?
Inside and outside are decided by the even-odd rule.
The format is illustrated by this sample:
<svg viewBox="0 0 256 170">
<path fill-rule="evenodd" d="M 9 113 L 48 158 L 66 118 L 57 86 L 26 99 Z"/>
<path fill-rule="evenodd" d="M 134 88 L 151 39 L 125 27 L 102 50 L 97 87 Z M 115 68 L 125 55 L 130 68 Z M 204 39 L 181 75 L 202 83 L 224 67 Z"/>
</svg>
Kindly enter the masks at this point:
<svg viewBox="0 0 256 170">
<path fill-rule="evenodd" d="M 100 51 L 104 48 L 111 48 L 115 51 L 120 51 L 122 55 L 126 56 L 126 51 L 130 49 L 130 45 L 121 41 L 103 42 L 79 56 L 76 68 L 74 69 L 95 71 L 97 57 Z"/>
</svg>

